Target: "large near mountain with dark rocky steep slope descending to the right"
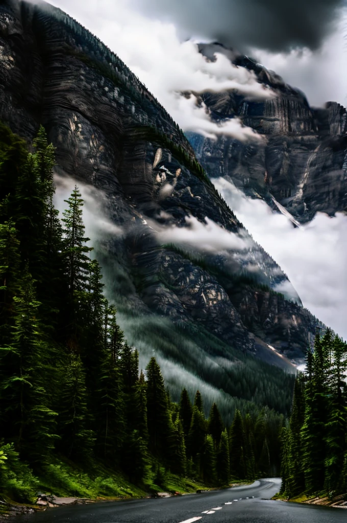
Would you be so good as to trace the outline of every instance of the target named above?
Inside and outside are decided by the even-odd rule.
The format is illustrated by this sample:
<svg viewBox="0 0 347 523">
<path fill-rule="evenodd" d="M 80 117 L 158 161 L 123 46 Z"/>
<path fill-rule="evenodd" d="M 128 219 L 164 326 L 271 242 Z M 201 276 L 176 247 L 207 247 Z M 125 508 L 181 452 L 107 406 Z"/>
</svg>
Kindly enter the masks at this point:
<svg viewBox="0 0 347 523">
<path fill-rule="evenodd" d="M 56 174 L 94 187 L 113 226 L 94 238 L 95 254 L 142 367 L 155 354 L 174 394 L 184 384 L 287 410 L 286 375 L 269 363 L 293 372 L 318 320 L 177 124 L 117 55 L 49 4 L 1 2 L 0 46 L 0 119 L 29 144 L 42 123 Z"/>
</svg>

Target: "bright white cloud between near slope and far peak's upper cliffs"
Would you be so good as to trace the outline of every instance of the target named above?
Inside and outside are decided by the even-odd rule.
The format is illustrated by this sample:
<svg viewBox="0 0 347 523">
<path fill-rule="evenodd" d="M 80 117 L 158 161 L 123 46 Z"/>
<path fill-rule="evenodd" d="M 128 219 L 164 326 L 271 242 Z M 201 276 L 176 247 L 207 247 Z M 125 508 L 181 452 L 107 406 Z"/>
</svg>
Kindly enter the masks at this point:
<svg viewBox="0 0 347 523">
<path fill-rule="evenodd" d="M 245 67 L 233 65 L 223 54 L 207 61 L 193 41 L 182 42 L 172 24 L 146 18 L 129 8 L 125 0 L 53 0 L 97 35 L 114 51 L 154 94 L 183 131 L 196 131 L 214 138 L 232 135 L 239 140 L 257 139 L 255 131 L 238 119 L 219 125 L 205 106 L 182 92 L 204 90 L 219 92 L 235 89 L 246 97 L 268 98 L 271 89 L 257 81 Z M 97 6 L 97 8 L 96 8 Z"/>
</svg>

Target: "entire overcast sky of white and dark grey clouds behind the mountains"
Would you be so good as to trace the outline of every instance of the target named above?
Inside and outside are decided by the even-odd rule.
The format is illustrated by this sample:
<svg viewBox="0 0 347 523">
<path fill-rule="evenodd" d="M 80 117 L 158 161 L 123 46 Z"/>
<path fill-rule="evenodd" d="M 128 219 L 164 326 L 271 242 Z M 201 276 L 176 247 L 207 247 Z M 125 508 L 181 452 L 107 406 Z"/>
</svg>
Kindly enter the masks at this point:
<svg viewBox="0 0 347 523">
<path fill-rule="evenodd" d="M 194 42 L 219 40 L 249 53 L 302 89 L 311 105 L 347 105 L 347 17 L 343 0 L 53 0 L 134 71 L 183 130 L 260 139 L 236 119 L 218 128 L 182 90 L 237 88 L 271 97 L 224 56 L 207 63 Z M 303 229 L 264 203 L 223 189 L 255 239 L 288 274 L 304 305 L 347 337 L 347 218 L 318 215 Z"/>
</svg>

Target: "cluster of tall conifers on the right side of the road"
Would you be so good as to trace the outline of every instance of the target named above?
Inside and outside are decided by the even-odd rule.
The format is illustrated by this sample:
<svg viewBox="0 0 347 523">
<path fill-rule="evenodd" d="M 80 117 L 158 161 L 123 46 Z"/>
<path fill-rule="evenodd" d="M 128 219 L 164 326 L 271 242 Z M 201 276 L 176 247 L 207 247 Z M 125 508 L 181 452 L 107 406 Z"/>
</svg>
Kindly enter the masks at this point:
<svg viewBox="0 0 347 523">
<path fill-rule="evenodd" d="M 347 489 L 347 345 L 327 329 L 307 353 L 295 382 L 290 422 L 284 429 L 282 493 Z"/>
</svg>

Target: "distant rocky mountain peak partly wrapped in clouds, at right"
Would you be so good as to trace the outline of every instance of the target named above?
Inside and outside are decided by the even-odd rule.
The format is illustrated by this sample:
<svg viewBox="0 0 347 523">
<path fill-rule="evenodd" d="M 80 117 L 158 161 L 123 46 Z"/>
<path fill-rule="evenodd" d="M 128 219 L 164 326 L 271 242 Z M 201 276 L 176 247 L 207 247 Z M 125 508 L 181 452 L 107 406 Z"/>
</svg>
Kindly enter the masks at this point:
<svg viewBox="0 0 347 523">
<path fill-rule="evenodd" d="M 262 198 L 289 212 L 294 222 L 310 221 L 317 211 L 347 209 L 346 109 L 336 102 L 310 107 L 305 95 L 273 71 L 221 44 L 201 44 L 206 59 L 222 53 L 252 71 L 275 96 L 250 99 L 233 90 L 194 93 L 216 121 L 239 117 L 263 140 L 216 140 L 189 133 L 199 161 L 211 177 L 223 176 L 247 196 Z"/>
</svg>

